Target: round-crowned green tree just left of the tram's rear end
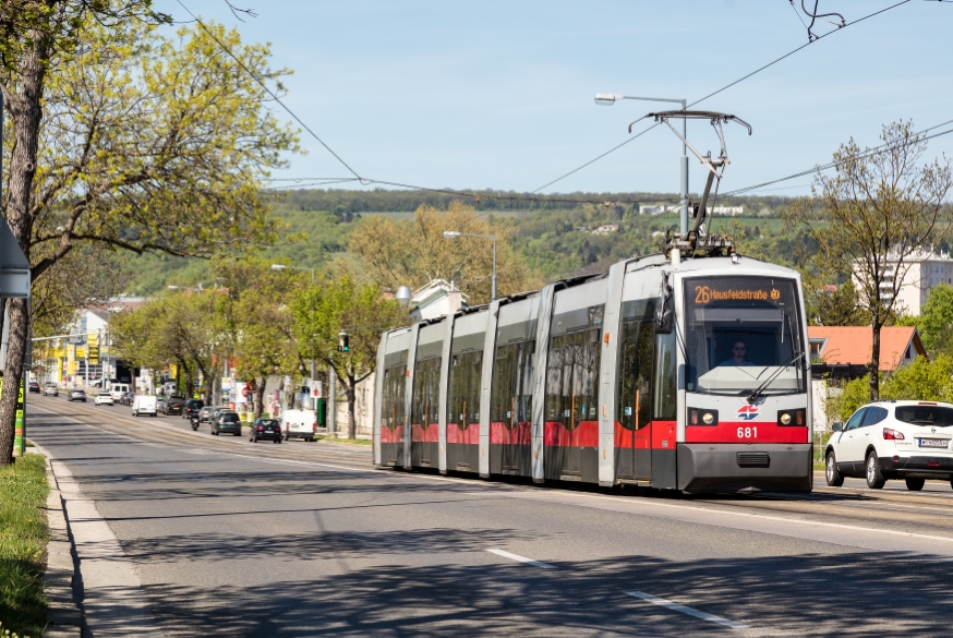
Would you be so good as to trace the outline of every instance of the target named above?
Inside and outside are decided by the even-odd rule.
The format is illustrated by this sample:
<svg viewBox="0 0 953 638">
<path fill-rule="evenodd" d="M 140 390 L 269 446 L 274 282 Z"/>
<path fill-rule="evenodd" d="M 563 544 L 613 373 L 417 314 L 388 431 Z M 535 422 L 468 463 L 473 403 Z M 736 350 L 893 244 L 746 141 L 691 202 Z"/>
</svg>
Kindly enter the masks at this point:
<svg viewBox="0 0 953 638">
<path fill-rule="evenodd" d="M 305 359 L 335 370 L 348 400 L 348 438 L 357 435 L 354 406 L 358 384 L 374 374 L 381 335 L 403 325 L 400 304 L 382 296 L 376 284 L 357 284 L 349 276 L 323 281 L 293 302 L 294 334 Z M 338 334 L 348 335 L 349 350 L 338 351 Z"/>
</svg>

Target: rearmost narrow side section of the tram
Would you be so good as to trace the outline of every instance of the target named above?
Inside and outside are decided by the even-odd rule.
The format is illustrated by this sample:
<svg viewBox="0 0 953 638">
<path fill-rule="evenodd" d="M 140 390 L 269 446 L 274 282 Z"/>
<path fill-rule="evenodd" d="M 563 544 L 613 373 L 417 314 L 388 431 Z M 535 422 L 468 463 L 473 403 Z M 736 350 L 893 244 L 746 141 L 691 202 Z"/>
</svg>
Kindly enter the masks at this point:
<svg viewBox="0 0 953 638">
<path fill-rule="evenodd" d="M 403 467 L 406 453 L 406 388 L 410 328 L 387 335 L 381 396 L 381 464 Z"/>
</svg>

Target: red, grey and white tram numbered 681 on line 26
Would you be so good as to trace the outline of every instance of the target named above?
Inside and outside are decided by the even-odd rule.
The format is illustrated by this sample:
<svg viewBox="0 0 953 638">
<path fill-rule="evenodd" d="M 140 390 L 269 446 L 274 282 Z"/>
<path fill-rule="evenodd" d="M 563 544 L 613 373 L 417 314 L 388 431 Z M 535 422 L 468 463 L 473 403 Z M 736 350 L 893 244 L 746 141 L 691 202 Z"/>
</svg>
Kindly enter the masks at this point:
<svg viewBox="0 0 953 638">
<path fill-rule="evenodd" d="M 703 232 L 711 183 L 662 253 L 385 333 L 374 464 L 809 492 L 800 276 Z"/>
</svg>

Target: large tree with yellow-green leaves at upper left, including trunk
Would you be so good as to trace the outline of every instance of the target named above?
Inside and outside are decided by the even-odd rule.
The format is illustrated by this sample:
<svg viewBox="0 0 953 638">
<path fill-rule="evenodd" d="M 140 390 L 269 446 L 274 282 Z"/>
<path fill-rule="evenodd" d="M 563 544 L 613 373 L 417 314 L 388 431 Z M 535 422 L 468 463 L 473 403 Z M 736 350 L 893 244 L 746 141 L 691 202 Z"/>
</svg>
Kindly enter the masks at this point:
<svg viewBox="0 0 953 638">
<path fill-rule="evenodd" d="M 216 25 L 239 61 L 202 29 L 162 38 L 148 0 L 12 4 L 36 9 L 13 40 L 0 38 L 13 139 L 5 214 L 34 281 L 83 243 L 209 256 L 274 241 L 257 181 L 297 136 L 242 69 L 280 91 L 287 72 L 268 65 L 267 47 Z M 9 309 L 5 373 L 16 376 L 28 317 L 21 300 Z M 0 398 L 0 464 L 14 408 L 13 395 Z"/>
</svg>

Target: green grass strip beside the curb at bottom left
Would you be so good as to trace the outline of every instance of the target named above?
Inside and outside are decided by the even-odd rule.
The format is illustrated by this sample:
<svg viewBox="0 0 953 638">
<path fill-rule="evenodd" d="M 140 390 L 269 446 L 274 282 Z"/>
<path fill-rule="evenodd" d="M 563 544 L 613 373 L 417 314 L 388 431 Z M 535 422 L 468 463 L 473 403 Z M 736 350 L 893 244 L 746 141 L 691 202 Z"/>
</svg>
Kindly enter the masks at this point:
<svg viewBox="0 0 953 638">
<path fill-rule="evenodd" d="M 43 509 L 49 486 L 46 458 L 27 454 L 0 467 L 0 635 L 39 636 L 49 527 Z"/>
</svg>

